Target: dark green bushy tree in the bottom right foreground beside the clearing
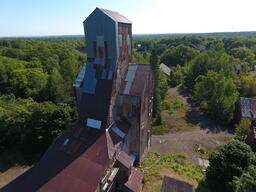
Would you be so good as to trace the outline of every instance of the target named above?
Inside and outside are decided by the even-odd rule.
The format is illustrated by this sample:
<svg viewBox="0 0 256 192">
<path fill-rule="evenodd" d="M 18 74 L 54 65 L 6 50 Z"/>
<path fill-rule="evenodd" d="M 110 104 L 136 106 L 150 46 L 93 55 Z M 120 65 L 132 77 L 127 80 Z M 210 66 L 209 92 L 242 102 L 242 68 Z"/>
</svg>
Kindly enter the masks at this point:
<svg viewBox="0 0 256 192">
<path fill-rule="evenodd" d="M 240 177 L 252 162 L 250 146 L 240 141 L 230 141 L 209 156 L 206 183 L 212 191 L 231 192 L 233 177 Z"/>
</svg>

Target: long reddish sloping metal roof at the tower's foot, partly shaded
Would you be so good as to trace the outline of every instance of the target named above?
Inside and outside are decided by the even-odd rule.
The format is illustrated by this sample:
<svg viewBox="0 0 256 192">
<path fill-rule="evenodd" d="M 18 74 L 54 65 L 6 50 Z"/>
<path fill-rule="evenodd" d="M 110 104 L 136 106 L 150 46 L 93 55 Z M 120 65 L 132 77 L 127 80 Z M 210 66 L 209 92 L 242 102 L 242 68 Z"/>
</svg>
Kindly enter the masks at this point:
<svg viewBox="0 0 256 192">
<path fill-rule="evenodd" d="M 114 153 L 108 132 L 76 123 L 55 140 L 35 167 L 2 191 L 94 192 Z"/>
</svg>

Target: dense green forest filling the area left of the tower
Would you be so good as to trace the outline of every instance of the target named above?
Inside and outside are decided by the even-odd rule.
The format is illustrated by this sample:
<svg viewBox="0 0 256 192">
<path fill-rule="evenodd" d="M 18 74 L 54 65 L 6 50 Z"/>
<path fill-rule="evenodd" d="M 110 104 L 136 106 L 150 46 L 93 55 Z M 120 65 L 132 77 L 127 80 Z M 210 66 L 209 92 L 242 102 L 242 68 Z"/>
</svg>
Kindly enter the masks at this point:
<svg viewBox="0 0 256 192">
<path fill-rule="evenodd" d="M 76 118 L 83 39 L 0 39 L 0 151 L 43 152 Z"/>
</svg>

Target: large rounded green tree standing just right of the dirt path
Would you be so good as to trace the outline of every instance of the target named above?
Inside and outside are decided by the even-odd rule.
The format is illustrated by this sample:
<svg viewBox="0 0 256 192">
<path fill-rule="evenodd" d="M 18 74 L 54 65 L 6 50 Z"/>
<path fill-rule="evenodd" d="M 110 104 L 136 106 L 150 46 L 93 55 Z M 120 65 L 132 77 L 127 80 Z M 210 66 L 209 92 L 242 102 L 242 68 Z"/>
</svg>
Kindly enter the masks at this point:
<svg viewBox="0 0 256 192">
<path fill-rule="evenodd" d="M 200 108 L 212 119 L 228 124 L 233 120 L 238 92 L 231 78 L 222 73 L 209 71 L 196 80 L 194 98 Z"/>
</svg>

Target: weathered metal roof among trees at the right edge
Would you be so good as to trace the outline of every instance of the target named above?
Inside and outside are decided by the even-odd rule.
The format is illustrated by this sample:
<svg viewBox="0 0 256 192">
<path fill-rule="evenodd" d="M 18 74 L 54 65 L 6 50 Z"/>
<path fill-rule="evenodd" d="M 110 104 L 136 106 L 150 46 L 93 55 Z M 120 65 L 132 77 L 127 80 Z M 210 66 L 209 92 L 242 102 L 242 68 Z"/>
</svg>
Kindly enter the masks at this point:
<svg viewBox="0 0 256 192">
<path fill-rule="evenodd" d="M 256 99 L 240 97 L 241 116 L 256 118 Z"/>
</svg>

